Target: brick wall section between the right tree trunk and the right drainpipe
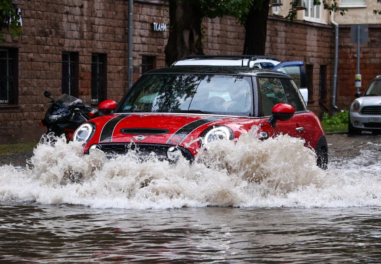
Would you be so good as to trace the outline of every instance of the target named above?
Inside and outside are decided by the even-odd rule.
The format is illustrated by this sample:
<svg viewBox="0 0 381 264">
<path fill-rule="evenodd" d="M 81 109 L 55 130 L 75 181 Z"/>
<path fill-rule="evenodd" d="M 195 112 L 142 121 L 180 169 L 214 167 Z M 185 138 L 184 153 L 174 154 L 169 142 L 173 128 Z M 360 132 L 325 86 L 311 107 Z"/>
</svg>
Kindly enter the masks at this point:
<svg viewBox="0 0 381 264">
<path fill-rule="evenodd" d="M 324 109 L 319 105 L 320 65 L 327 66 L 328 95 L 327 101 L 322 103 L 329 108 L 334 59 L 333 27 L 305 21 L 294 21 L 290 26 L 284 19 L 269 16 L 266 54 L 280 61 L 302 60 L 304 64 L 312 65 L 312 96 L 308 108 L 322 116 Z"/>
</svg>

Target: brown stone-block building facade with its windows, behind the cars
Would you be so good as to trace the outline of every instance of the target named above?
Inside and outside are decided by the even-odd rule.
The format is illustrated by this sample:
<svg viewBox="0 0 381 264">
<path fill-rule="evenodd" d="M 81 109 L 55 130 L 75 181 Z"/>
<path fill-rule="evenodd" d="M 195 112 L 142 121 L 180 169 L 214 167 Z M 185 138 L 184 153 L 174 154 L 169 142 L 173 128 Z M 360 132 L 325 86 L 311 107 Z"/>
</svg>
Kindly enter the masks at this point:
<svg viewBox="0 0 381 264">
<path fill-rule="evenodd" d="M 45 90 L 53 98 L 68 93 L 95 106 L 105 99 L 119 101 L 123 97 L 128 89 L 128 1 L 13 2 L 21 10 L 23 34 L 14 39 L 5 34 L 0 45 L 0 127 L 38 126 L 50 103 L 43 96 Z M 288 3 L 283 4 L 271 8 L 266 54 L 281 61 L 303 60 L 310 94 L 308 108 L 318 114 L 330 111 L 335 40 L 332 17 L 321 7 L 317 11 L 316 6 L 315 9 L 307 6 L 298 11 L 298 19 L 290 26 L 282 13 L 288 10 Z M 133 11 L 133 81 L 136 81 L 142 73 L 166 66 L 164 48 L 169 14 L 168 7 L 158 0 L 135 0 Z M 351 12 L 352 9 L 348 14 Z M 367 16 L 373 19 L 376 15 Z M 355 93 L 356 44 L 350 43 L 348 37 L 351 18 L 346 14 L 339 21 L 337 17 L 340 23 L 337 105 L 347 109 Z M 381 23 L 377 17 L 375 21 L 360 22 L 373 23 L 369 27 L 370 41 L 361 44 L 365 87 L 375 75 L 381 74 L 378 45 Z M 205 54 L 242 54 L 245 29 L 235 19 L 230 16 L 205 19 L 203 28 Z"/>
</svg>

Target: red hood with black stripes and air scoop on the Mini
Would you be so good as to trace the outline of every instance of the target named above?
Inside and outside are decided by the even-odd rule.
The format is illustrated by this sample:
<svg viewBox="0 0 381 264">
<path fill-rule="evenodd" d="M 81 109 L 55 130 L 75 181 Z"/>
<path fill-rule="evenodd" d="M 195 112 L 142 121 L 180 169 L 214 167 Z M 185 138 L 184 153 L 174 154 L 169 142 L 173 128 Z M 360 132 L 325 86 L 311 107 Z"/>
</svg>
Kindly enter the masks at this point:
<svg viewBox="0 0 381 264">
<path fill-rule="evenodd" d="M 208 127 L 224 124 L 229 119 L 237 120 L 182 114 L 114 114 L 91 120 L 96 124 L 91 142 L 184 145 L 197 140 Z"/>
</svg>

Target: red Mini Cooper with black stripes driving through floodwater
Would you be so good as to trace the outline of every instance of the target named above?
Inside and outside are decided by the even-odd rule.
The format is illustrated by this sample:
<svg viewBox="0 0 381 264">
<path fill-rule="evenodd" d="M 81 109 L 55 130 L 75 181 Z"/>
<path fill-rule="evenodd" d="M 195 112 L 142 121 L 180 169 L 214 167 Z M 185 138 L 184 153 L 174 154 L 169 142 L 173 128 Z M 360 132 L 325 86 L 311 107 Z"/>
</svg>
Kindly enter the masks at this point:
<svg viewBox="0 0 381 264">
<path fill-rule="evenodd" d="M 91 119 L 75 131 L 88 153 L 156 153 L 191 162 L 203 144 L 239 138 L 253 126 L 266 140 L 288 134 L 306 140 L 317 166 L 328 163 L 327 140 L 319 118 L 306 109 L 287 74 L 234 66 L 181 66 L 143 74 L 122 101 L 99 105 L 106 116 Z M 197 140 L 199 139 L 199 140 Z M 254 154 L 253 154 L 254 155 Z"/>
</svg>

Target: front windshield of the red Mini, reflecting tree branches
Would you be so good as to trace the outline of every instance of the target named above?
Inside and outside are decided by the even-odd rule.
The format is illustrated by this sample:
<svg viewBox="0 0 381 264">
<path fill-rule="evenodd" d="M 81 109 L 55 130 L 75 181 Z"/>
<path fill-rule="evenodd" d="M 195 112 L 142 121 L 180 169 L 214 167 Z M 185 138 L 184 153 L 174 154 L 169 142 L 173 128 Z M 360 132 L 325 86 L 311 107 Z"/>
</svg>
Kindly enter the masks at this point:
<svg viewBox="0 0 381 264">
<path fill-rule="evenodd" d="M 251 77 L 147 74 L 123 99 L 117 113 L 253 115 Z"/>
</svg>

